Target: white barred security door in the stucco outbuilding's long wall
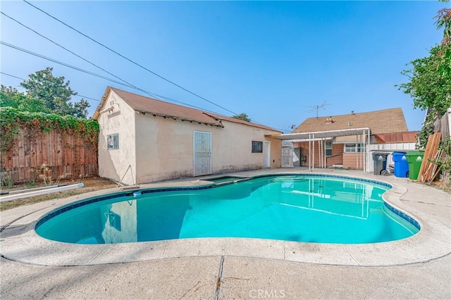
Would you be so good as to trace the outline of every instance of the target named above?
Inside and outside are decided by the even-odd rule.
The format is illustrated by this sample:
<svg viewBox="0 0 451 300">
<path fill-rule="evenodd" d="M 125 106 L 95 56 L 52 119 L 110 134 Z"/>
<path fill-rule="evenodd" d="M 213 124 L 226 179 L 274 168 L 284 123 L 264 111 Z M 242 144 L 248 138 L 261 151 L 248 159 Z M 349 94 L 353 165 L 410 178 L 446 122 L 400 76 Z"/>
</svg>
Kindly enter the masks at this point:
<svg viewBox="0 0 451 300">
<path fill-rule="evenodd" d="M 211 132 L 194 131 L 193 176 L 211 174 Z"/>
</svg>

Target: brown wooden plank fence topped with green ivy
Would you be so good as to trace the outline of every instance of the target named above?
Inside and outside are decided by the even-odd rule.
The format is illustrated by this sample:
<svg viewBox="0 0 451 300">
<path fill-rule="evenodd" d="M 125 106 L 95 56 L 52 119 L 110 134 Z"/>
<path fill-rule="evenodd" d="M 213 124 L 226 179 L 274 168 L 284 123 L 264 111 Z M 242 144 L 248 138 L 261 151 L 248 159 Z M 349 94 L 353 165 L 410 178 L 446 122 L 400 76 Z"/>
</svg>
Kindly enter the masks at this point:
<svg viewBox="0 0 451 300">
<path fill-rule="evenodd" d="M 59 130 L 18 133 L 1 151 L 2 185 L 98 175 L 97 145 L 87 139 Z"/>
</svg>

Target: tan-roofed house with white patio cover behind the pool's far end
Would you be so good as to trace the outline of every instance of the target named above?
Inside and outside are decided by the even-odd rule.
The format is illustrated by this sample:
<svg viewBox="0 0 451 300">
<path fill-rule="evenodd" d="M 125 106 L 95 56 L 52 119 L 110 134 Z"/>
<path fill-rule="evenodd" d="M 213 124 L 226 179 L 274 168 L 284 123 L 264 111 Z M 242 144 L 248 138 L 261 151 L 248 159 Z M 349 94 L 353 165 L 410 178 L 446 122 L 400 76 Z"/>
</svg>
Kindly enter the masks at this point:
<svg viewBox="0 0 451 300">
<path fill-rule="evenodd" d="M 376 146 L 397 132 L 395 146 Z M 404 139 L 403 139 L 404 137 Z M 300 165 L 310 168 L 342 167 L 372 170 L 371 151 L 402 151 L 414 149 L 416 132 L 407 132 L 401 108 L 366 113 L 350 113 L 328 117 L 308 118 L 290 134 L 280 139 L 294 142 L 294 153 Z M 413 142 L 412 142 L 413 141 Z"/>
</svg>

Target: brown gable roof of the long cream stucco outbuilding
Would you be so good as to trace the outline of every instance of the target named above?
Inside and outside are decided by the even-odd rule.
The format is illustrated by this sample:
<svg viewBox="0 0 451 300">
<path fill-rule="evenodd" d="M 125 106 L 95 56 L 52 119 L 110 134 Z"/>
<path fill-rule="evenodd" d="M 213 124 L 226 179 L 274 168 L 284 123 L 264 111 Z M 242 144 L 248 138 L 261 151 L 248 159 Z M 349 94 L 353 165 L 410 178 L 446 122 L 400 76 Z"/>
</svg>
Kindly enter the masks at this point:
<svg viewBox="0 0 451 300">
<path fill-rule="evenodd" d="M 97 120 L 97 118 L 99 118 L 99 113 L 101 109 L 104 108 L 106 99 L 108 98 L 111 91 L 117 94 L 119 97 L 121 97 L 121 99 L 123 99 L 123 101 L 125 101 L 125 103 L 127 103 L 133 110 L 139 111 L 140 113 L 149 113 L 150 115 L 154 116 L 159 115 L 164 118 L 173 118 L 175 120 L 197 122 L 217 127 L 224 127 L 222 121 L 227 120 L 233 123 L 240 123 L 252 127 L 259 127 L 262 129 L 280 132 L 280 130 L 275 130 L 265 125 L 250 123 L 243 120 L 237 120 L 235 118 L 226 117 L 224 115 L 218 115 L 216 113 L 201 111 L 199 109 L 190 108 L 187 106 L 171 104 L 165 101 L 150 98 L 148 96 L 142 96 L 131 92 L 125 92 L 122 89 L 116 89 L 114 87 L 106 88 L 104 96 L 102 96 L 101 102 L 99 106 L 97 106 L 97 109 L 94 113 L 93 116 L 94 120 Z"/>
</svg>

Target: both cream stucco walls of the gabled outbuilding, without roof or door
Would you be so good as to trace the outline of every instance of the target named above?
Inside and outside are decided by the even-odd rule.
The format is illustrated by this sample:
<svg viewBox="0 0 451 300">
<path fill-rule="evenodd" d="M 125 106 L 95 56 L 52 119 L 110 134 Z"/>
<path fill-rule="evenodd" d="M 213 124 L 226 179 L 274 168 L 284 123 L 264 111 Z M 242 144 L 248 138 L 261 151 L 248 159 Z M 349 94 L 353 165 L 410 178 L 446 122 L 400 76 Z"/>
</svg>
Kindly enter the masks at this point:
<svg viewBox="0 0 451 300">
<path fill-rule="evenodd" d="M 263 168 L 264 154 L 252 141 L 271 142 L 271 168 L 280 167 L 280 140 L 273 130 L 223 120 L 224 127 L 173 120 L 134 111 L 113 91 L 99 115 L 99 175 L 127 185 L 193 175 L 193 132 L 211 132 L 212 174 Z M 108 135 L 119 135 L 119 149 L 107 149 Z"/>
</svg>

